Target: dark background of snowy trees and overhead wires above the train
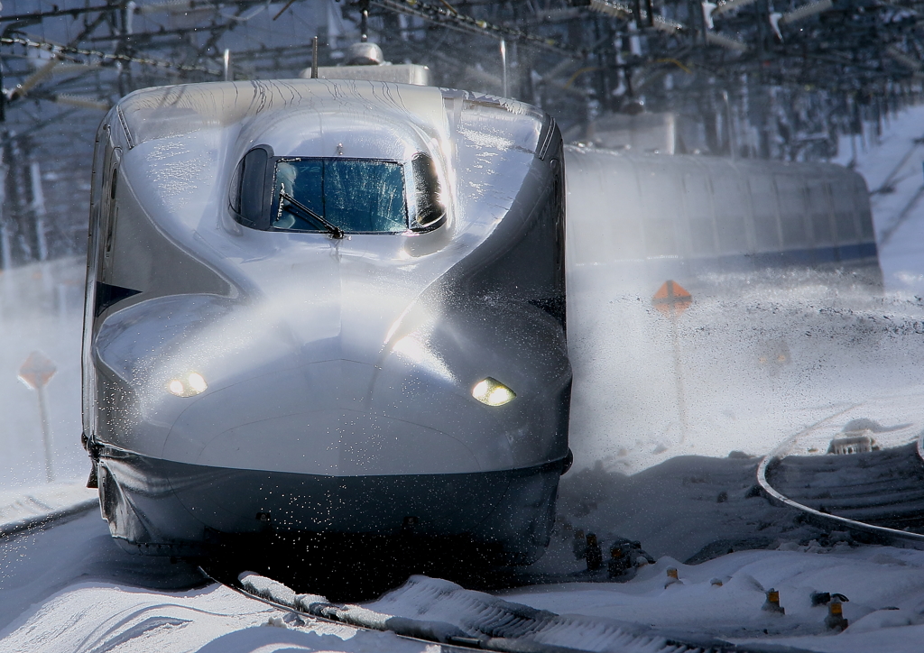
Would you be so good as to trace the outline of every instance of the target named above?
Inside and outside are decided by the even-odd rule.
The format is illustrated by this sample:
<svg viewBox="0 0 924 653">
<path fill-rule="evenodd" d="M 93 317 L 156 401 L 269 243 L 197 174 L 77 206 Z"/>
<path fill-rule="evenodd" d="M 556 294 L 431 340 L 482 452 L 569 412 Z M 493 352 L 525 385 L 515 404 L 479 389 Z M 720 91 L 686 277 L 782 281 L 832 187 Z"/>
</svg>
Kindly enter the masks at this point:
<svg viewBox="0 0 924 653">
<path fill-rule="evenodd" d="M 6 0 L 0 268 L 82 251 L 95 128 L 139 88 L 298 76 L 379 43 L 540 105 L 566 139 L 670 112 L 680 151 L 811 161 L 917 103 L 917 0 Z"/>
</svg>

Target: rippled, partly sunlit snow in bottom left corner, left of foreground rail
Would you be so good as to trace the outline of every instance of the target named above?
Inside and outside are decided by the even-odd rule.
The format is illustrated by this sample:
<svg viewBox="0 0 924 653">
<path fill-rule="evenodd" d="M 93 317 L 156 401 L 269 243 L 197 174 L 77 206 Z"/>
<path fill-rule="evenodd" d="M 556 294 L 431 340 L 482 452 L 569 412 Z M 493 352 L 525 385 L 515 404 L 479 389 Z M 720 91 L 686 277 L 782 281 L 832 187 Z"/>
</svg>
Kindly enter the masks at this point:
<svg viewBox="0 0 924 653">
<path fill-rule="evenodd" d="M 0 546 L 4 653 L 425 650 L 327 623 L 289 631 L 284 616 L 186 563 L 124 553 L 95 510 Z"/>
</svg>

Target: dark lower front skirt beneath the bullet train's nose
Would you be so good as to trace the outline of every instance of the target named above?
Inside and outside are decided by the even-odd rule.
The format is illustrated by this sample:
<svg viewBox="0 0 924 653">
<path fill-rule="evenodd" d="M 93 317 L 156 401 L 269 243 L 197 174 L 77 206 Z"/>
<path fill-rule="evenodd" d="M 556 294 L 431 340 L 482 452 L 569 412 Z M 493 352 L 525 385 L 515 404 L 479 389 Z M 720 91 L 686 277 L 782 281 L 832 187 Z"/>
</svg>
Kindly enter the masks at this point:
<svg viewBox="0 0 924 653">
<path fill-rule="evenodd" d="M 331 477 L 176 463 L 105 448 L 113 536 L 154 555 L 261 533 L 465 537 L 519 562 L 548 543 L 564 461 L 467 474 Z"/>
</svg>

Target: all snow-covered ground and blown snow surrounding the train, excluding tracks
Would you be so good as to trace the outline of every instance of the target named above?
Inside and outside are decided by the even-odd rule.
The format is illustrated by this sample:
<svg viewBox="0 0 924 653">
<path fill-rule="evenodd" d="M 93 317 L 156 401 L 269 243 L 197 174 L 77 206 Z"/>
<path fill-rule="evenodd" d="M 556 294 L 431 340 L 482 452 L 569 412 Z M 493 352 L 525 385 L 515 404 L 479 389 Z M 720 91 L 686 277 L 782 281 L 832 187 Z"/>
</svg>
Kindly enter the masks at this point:
<svg viewBox="0 0 924 653">
<path fill-rule="evenodd" d="M 575 582 L 498 593 L 548 611 L 536 641 L 658 651 L 670 631 L 687 641 L 717 637 L 780 650 L 920 649 L 924 552 L 859 545 L 771 505 L 754 490 L 754 456 L 781 445 L 817 452 L 857 417 L 883 426 L 924 417 L 918 363 L 924 357 L 924 197 L 916 200 L 924 187 L 924 146 L 913 142 L 924 135 L 922 124 L 924 107 L 908 110 L 880 143 L 857 151 L 857 170 L 869 187 L 889 191 L 873 197 L 885 295 L 821 273 L 716 279 L 724 292 L 696 296 L 678 321 L 676 354 L 669 324 L 651 310 L 649 297 L 606 296 L 592 315 L 580 316 L 579 326 L 569 322 L 577 464 L 563 479 L 549 553 L 529 574 Z M 849 159 L 849 147 L 844 150 Z M 55 513 L 88 496 L 75 483 L 87 472 L 79 447 L 82 274 L 79 260 L 0 274 L 0 523 Z M 17 380 L 19 366 L 36 350 L 58 367 L 46 392 L 53 465 L 65 482 L 51 486 L 42 482 L 35 393 Z M 913 437 L 913 431 L 899 429 L 894 437 Z M 573 556 L 578 528 L 594 531 L 604 554 L 614 538 L 637 538 L 657 561 L 631 580 L 607 582 L 605 569 L 588 574 Z M 675 583 L 669 567 L 678 572 Z M 771 588 L 785 614 L 761 610 Z M 825 628 L 827 608 L 811 606 L 815 591 L 850 599 L 845 632 Z M 450 594 L 455 603 L 440 601 Z M 429 614 L 478 635 L 479 611 L 496 607 L 491 600 L 415 578 L 369 607 Z M 0 541 L 0 651 L 32 650 L 437 647 L 293 620 L 205 583 L 184 562 L 128 555 L 94 510 Z"/>
</svg>

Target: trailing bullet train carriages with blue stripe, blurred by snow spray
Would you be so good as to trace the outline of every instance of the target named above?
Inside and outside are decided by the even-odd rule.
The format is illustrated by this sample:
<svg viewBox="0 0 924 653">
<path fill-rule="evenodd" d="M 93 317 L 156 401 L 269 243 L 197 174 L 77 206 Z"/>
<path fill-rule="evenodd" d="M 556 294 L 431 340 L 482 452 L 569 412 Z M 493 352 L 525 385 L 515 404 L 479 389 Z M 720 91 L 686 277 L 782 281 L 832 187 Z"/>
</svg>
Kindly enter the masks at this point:
<svg viewBox="0 0 924 653">
<path fill-rule="evenodd" d="M 586 146 L 565 161 L 572 289 L 605 275 L 650 296 L 667 279 L 793 267 L 881 287 L 869 190 L 843 166 Z"/>
</svg>

